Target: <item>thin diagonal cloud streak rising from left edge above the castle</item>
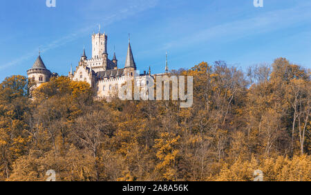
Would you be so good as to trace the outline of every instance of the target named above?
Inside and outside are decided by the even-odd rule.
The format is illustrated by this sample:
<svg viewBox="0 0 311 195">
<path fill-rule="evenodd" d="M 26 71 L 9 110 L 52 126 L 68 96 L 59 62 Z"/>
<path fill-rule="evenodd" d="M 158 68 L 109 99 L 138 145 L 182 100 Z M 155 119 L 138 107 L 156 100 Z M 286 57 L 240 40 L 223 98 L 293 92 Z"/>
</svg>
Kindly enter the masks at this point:
<svg viewBox="0 0 311 195">
<path fill-rule="evenodd" d="M 85 34 L 88 34 L 99 23 L 104 23 L 105 26 L 110 25 L 111 23 L 115 23 L 115 21 L 126 19 L 127 17 L 131 17 L 132 15 L 137 14 L 138 12 L 142 12 L 149 8 L 155 7 L 158 1 L 159 0 L 144 0 L 144 1 L 136 0 L 134 1 L 135 4 L 132 4 L 131 6 L 126 8 L 120 8 L 120 10 L 117 10 L 113 14 L 109 14 L 108 16 L 100 20 L 97 20 L 92 25 L 88 25 L 87 27 L 81 28 L 79 30 L 73 30 L 74 33 L 67 34 L 66 36 L 51 41 L 46 45 L 40 45 L 38 48 L 30 50 L 30 52 L 23 54 L 21 57 L 17 57 L 17 59 L 10 61 L 4 65 L 1 65 L 0 70 L 3 70 L 4 68 L 8 68 L 12 65 L 16 65 L 32 57 L 35 57 L 39 48 L 41 52 L 47 52 L 48 50 L 59 48 L 62 45 L 66 45 L 67 43 L 75 41 L 76 39 L 79 39 L 79 37 L 83 37 Z"/>
</svg>

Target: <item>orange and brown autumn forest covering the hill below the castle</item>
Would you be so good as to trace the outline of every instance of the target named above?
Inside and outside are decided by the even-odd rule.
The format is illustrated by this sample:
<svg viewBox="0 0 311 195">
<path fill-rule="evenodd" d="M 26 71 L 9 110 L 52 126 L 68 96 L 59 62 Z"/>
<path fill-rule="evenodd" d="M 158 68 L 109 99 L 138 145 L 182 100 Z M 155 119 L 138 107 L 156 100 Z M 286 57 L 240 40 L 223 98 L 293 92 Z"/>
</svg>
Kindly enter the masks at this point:
<svg viewBox="0 0 311 195">
<path fill-rule="evenodd" d="M 247 71 L 216 61 L 194 103 L 95 101 L 65 76 L 31 98 L 25 76 L 0 84 L 0 181 L 311 181 L 310 70 L 279 58 Z"/>
</svg>

